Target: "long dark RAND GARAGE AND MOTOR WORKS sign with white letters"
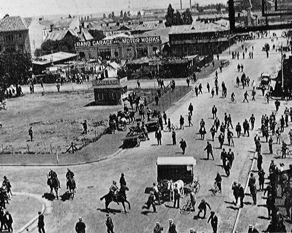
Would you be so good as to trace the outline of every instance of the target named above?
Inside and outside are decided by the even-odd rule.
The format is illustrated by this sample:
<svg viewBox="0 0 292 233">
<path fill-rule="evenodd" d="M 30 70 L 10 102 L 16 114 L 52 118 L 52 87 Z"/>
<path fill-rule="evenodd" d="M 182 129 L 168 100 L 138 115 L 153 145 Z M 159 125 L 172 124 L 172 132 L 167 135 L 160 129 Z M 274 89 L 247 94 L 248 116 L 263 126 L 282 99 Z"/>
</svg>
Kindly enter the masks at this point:
<svg viewBox="0 0 292 233">
<path fill-rule="evenodd" d="M 157 43 L 161 42 L 160 36 L 149 36 L 149 37 L 135 37 L 135 38 L 122 38 L 121 40 L 94 40 L 94 41 L 80 41 L 75 43 L 76 48 L 82 47 L 96 47 L 96 46 L 107 46 L 117 44 L 144 44 L 144 43 Z"/>
</svg>

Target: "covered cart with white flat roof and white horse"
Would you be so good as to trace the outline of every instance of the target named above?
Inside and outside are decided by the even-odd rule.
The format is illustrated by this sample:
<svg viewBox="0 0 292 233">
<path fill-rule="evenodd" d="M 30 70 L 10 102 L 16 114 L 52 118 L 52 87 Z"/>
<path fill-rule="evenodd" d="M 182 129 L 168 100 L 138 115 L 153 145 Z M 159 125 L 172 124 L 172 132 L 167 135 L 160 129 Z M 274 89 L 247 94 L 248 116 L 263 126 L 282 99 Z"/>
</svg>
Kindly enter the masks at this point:
<svg viewBox="0 0 292 233">
<path fill-rule="evenodd" d="M 162 199 L 171 200 L 175 184 L 181 185 L 183 194 L 199 192 L 200 184 L 194 180 L 196 160 L 194 157 L 158 157 L 157 182 Z"/>
</svg>

